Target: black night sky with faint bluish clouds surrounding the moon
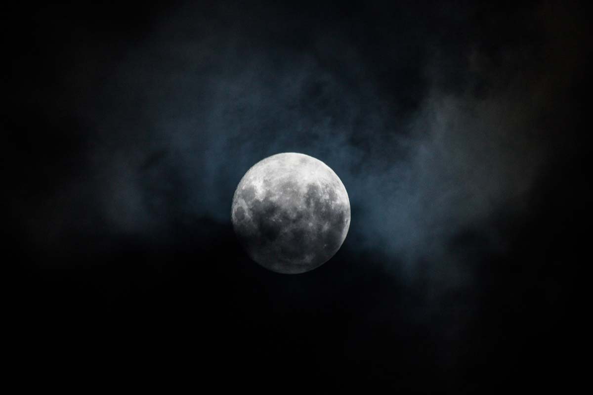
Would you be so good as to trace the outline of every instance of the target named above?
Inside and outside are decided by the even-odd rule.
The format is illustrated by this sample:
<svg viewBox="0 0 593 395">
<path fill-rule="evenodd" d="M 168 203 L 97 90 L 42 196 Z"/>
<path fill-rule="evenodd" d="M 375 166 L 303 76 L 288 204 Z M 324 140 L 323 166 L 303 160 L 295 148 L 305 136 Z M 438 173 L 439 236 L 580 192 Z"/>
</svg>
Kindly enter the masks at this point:
<svg viewBox="0 0 593 395">
<path fill-rule="evenodd" d="M 570 386 L 589 20 L 482 3 L 8 7 L 21 381 Z M 286 151 L 333 168 L 352 205 L 342 249 L 303 275 L 251 262 L 230 222 L 243 174 Z"/>
</svg>

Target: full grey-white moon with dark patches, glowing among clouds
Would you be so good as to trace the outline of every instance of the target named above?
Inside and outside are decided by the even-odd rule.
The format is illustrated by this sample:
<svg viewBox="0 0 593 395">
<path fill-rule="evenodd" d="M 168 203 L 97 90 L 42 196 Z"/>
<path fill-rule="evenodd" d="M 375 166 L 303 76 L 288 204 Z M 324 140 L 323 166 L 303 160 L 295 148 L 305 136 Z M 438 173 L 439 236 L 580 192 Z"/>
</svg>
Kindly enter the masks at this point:
<svg viewBox="0 0 593 395">
<path fill-rule="evenodd" d="M 322 161 L 285 152 L 254 164 L 232 199 L 232 225 L 255 262 L 297 274 L 336 254 L 350 227 L 346 188 Z"/>
</svg>

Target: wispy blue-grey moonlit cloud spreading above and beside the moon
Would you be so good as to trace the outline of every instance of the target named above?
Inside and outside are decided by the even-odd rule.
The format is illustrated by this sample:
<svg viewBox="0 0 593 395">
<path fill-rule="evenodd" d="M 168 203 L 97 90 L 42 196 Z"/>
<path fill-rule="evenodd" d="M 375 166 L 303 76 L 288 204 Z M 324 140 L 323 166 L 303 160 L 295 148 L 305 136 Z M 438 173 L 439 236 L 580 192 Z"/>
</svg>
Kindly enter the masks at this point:
<svg viewBox="0 0 593 395">
<path fill-rule="evenodd" d="M 284 151 L 320 158 L 345 183 L 348 248 L 385 249 L 404 272 L 452 259 L 449 243 L 468 228 L 501 246 L 487 222 L 528 211 L 549 157 L 542 119 L 569 83 L 555 78 L 570 70 L 546 12 L 524 11 L 543 43 L 518 36 L 492 50 L 492 32 L 451 41 L 402 21 L 407 42 L 385 36 L 369 52 L 338 23 L 307 34 L 303 15 L 266 27 L 262 10 L 187 7 L 120 58 L 101 60 L 99 47 L 76 59 L 73 78 L 93 87 L 74 107 L 92 144 L 85 181 L 68 190 L 93 196 L 101 232 L 152 238 L 191 218 L 229 223 L 244 172 Z M 378 37 L 390 31 L 381 23 Z M 288 40 L 295 32 L 303 44 Z M 90 76 L 93 63 L 109 78 Z M 97 232 L 90 222 L 68 221 Z"/>
</svg>

